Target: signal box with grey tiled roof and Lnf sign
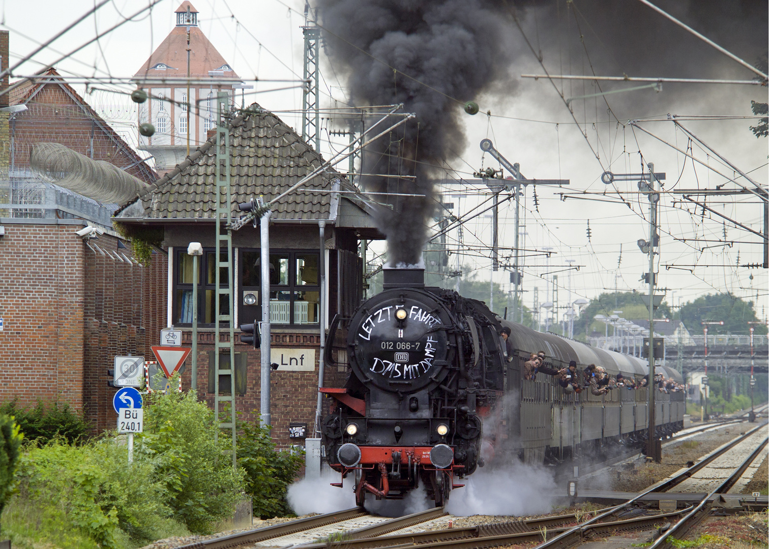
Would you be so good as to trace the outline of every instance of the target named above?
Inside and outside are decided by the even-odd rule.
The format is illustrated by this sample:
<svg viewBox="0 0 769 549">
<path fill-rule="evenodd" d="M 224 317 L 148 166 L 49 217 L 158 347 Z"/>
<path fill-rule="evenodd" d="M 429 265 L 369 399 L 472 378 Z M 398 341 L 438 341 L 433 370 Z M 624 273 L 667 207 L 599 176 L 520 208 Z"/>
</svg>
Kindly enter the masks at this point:
<svg viewBox="0 0 769 549">
<path fill-rule="evenodd" d="M 265 201 L 277 197 L 323 163 L 295 131 L 259 105 L 234 111 L 228 128 L 233 217 L 238 202 L 260 195 Z M 191 344 L 193 280 L 191 256 L 186 252 L 192 241 L 203 245 L 198 278 L 198 392 L 211 406 L 215 391 L 212 368 L 208 368 L 214 358 L 215 330 L 215 163 L 212 136 L 143 195 L 115 212 L 115 221 L 129 231 L 161 231 L 169 258 L 167 324 L 183 331 L 185 346 Z M 289 424 L 308 424 L 309 431 L 314 426 L 321 329 L 337 313 L 349 317 L 360 303 L 358 239 L 382 238 L 372 225 L 369 206 L 356 193 L 344 176 L 329 168 L 272 208 L 268 299 L 271 360 L 279 366 L 271 374 L 271 424 L 273 438 L 283 446 L 290 442 Z M 326 224 L 322 249 L 319 221 Z M 232 246 L 237 327 L 261 319 L 259 229 L 249 224 L 234 231 Z M 326 287 L 321 287 L 318 276 L 321 253 Z M 325 318 L 319 317 L 321 292 L 328 303 Z M 241 418 L 253 421 L 261 393 L 260 353 L 240 343 L 237 329 L 235 333 L 236 409 L 242 412 Z M 227 341 L 228 331 L 223 330 L 221 338 Z M 182 376 L 185 388 L 191 385 L 189 372 L 188 364 Z M 326 368 L 325 373 L 326 386 L 341 386 L 347 374 L 344 367 Z"/>
</svg>

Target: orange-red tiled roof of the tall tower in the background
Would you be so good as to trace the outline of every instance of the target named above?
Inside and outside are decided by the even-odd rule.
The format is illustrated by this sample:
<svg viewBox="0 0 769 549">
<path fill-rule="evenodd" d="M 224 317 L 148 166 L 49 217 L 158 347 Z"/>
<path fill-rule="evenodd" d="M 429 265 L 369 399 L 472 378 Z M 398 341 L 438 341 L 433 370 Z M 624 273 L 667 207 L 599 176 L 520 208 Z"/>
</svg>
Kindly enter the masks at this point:
<svg viewBox="0 0 769 549">
<path fill-rule="evenodd" d="M 151 68 L 163 63 L 168 68 Z M 220 70 L 228 65 L 225 58 L 216 50 L 198 27 L 190 27 L 190 76 L 210 78 L 208 71 Z M 134 78 L 187 78 L 187 32 L 185 27 L 174 27 L 161 45 L 152 52 Z M 234 71 L 225 71 L 221 78 L 240 78 Z"/>
</svg>

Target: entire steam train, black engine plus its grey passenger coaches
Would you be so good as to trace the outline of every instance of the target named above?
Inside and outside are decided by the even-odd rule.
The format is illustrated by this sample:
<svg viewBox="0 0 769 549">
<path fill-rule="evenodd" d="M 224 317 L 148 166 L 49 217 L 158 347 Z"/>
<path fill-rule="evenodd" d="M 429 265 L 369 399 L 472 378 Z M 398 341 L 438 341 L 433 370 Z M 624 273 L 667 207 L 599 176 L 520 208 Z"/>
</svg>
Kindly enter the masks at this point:
<svg viewBox="0 0 769 549">
<path fill-rule="evenodd" d="M 331 322 L 330 341 L 340 320 Z M 555 463 L 646 436 L 646 388 L 594 396 L 567 393 L 551 376 L 523 378 L 536 351 L 554 368 L 574 360 L 638 381 L 644 361 L 504 321 L 481 301 L 426 288 L 423 269 L 385 268 L 383 291 L 349 320 L 346 344 L 345 387 L 321 388 L 331 398 L 321 438 L 328 464 L 354 475 L 358 505 L 367 493 L 400 499 L 421 483 L 441 506 L 487 461 Z M 334 365 L 331 348 L 325 360 Z M 683 428 L 684 394 L 655 400 L 658 434 Z"/>
</svg>

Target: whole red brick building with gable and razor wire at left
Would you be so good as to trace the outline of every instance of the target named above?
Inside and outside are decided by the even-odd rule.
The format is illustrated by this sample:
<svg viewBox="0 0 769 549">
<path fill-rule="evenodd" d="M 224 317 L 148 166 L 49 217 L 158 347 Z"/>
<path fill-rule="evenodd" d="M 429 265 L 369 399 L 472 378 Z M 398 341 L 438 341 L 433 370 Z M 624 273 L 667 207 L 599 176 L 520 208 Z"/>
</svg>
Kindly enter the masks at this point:
<svg viewBox="0 0 769 549">
<path fill-rule="evenodd" d="M 0 32 L 0 59 L 7 67 L 8 32 Z M 105 368 L 115 354 L 150 352 L 155 339 L 146 334 L 165 322 L 152 305 L 167 260 L 155 253 L 140 265 L 112 228 L 116 205 L 42 181 L 29 155 L 55 142 L 141 181 L 156 175 L 54 69 L 4 98 L 27 109 L 0 113 L 0 402 L 68 402 L 112 425 Z M 87 225 L 98 231 L 78 235 Z"/>
</svg>

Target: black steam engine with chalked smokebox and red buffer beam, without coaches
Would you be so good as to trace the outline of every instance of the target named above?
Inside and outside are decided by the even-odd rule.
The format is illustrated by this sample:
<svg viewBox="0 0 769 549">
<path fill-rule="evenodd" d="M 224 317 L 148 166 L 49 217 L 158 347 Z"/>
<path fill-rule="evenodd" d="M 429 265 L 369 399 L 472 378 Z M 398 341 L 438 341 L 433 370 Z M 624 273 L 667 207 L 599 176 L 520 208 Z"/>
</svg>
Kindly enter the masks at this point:
<svg viewBox="0 0 769 549">
<path fill-rule="evenodd" d="M 482 418 L 504 390 L 500 329 L 481 301 L 425 288 L 424 269 L 384 269 L 384 291 L 348 324 L 345 387 L 321 388 L 333 399 L 321 421 L 325 457 L 355 477 L 356 504 L 367 492 L 400 499 L 421 482 L 441 506 L 483 466 Z"/>
</svg>

